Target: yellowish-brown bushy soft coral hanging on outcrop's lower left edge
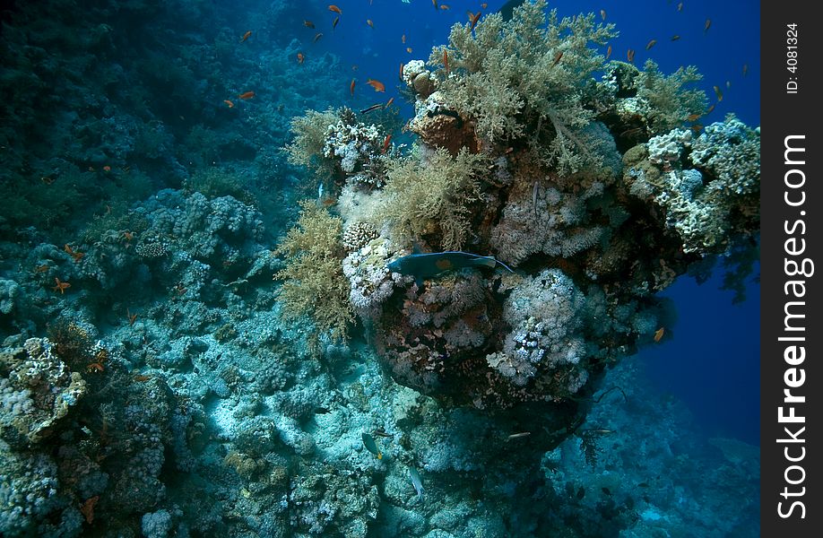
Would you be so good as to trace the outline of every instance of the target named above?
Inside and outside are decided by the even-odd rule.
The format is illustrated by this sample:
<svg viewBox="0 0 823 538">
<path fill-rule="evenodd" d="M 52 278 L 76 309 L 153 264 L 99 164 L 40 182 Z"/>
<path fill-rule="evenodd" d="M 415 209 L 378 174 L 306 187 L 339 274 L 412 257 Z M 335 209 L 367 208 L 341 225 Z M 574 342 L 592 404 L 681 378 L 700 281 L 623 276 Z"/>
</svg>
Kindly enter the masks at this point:
<svg viewBox="0 0 823 538">
<path fill-rule="evenodd" d="M 314 201 L 300 203 L 302 213 L 275 253 L 286 266 L 274 275 L 283 280 L 279 299 L 284 315 L 295 320 L 310 316 L 316 331 L 309 342 L 316 346 L 321 334 L 344 341 L 353 320 L 349 305 L 349 281 L 342 273 L 342 221 Z"/>
</svg>

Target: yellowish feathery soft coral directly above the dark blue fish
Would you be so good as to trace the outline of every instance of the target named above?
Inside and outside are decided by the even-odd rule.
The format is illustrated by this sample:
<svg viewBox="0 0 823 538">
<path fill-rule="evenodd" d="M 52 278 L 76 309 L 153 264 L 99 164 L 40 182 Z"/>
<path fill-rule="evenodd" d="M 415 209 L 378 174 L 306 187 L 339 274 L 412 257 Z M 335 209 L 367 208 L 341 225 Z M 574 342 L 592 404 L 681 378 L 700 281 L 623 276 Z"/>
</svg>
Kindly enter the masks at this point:
<svg viewBox="0 0 823 538">
<path fill-rule="evenodd" d="M 444 250 L 463 247 L 470 230 L 471 204 L 480 196 L 480 176 L 487 163 L 483 155 L 463 149 L 452 158 L 442 148 L 422 161 L 391 161 L 386 203 L 380 213 L 389 222 L 395 241 L 408 244 L 437 234 Z"/>
</svg>

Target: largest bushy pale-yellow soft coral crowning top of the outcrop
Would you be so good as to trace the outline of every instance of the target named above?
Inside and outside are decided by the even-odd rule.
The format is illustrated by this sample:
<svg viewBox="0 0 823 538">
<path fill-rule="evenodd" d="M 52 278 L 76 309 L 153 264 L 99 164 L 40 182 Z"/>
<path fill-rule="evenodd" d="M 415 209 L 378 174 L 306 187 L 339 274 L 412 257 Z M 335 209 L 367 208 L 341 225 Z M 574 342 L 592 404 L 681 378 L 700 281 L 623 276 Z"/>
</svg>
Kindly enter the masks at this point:
<svg viewBox="0 0 823 538">
<path fill-rule="evenodd" d="M 602 45 L 616 34 L 613 25 L 596 24 L 594 15 L 560 20 L 545 15 L 544 0 L 516 8 L 504 22 L 487 15 L 473 30 L 456 24 L 446 48 L 435 48 L 429 64 L 449 63 L 439 82 L 446 100 L 476 121 L 487 143 L 529 135 L 541 156 L 561 173 L 574 172 L 597 156 L 586 149 L 582 129 L 593 119 L 584 107 L 584 91 L 603 57 L 590 44 Z M 548 148 L 542 146 L 550 136 Z"/>
</svg>

